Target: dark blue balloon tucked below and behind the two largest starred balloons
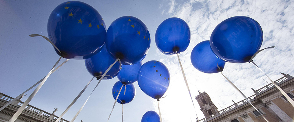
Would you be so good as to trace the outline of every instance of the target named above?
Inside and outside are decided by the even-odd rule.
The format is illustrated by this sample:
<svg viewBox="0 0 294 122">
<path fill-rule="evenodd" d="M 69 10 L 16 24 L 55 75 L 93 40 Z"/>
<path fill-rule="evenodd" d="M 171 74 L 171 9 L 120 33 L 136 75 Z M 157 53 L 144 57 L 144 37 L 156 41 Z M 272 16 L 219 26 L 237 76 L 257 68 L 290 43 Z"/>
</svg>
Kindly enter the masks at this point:
<svg viewBox="0 0 294 122">
<path fill-rule="evenodd" d="M 99 79 L 101 75 L 103 75 L 104 72 L 108 69 L 108 67 L 114 62 L 115 60 L 111 58 L 105 46 L 96 55 L 92 56 L 89 59 L 85 59 L 85 65 L 88 72 L 92 76 L 99 76 L 97 77 L 97 79 Z M 103 78 L 103 80 L 107 80 L 107 79 L 111 79 L 115 77 L 117 74 L 119 74 L 119 71 L 120 71 L 119 62 L 116 62 L 111 67 L 111 69 L 106 73 L 106 76 Z"/>
</svg>

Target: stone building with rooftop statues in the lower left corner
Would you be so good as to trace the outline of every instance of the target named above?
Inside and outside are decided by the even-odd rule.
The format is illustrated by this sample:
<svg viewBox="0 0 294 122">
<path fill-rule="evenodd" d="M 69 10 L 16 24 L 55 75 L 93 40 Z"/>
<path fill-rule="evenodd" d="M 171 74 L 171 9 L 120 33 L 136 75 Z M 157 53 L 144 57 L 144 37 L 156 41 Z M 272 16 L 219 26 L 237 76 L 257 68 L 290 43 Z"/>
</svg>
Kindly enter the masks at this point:
<svg viewBox="0 0 294 122">
<path fill-rule="evenodd" d="M 14 98 L 0 93 L 0 107 L 6 105 Z M 12 104 L 0 111 L 0 122 L 8 122 L 13 114 L 22 106 L 24 102 L 17 99 Z M 54 113 L 54 112 L 53 112 Z M 28 105 L 15 122 L 55 122 L 57 116 L 53 113 L 46 112 L 42 109 Z M 60 119 L 59 122 L 69 122 L 65 119 Z"/>
</svg>

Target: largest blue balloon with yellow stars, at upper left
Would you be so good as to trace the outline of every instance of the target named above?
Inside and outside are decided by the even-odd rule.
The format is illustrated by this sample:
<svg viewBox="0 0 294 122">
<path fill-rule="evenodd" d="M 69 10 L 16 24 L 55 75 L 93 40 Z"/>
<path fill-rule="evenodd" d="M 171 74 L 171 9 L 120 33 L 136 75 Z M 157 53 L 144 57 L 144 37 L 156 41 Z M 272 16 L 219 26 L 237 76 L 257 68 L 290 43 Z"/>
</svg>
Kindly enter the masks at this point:
<svg viewBox="0 0 294 122">
<path fill-rule="evenodd" d="M 106 27 L 92 6 L 69 1 L 58 5 L 47 24 L 49 39 L 66 59 L 87 59 L 100 52 L 105 42 Z"/>
</svg>

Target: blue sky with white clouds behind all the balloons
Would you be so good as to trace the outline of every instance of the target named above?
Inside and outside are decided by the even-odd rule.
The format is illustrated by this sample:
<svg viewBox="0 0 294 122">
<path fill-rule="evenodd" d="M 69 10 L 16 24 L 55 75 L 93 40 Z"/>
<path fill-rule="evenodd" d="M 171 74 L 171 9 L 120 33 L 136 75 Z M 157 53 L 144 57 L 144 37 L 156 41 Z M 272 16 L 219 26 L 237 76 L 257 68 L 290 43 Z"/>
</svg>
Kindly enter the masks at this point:
<svg viewBox="0 0 294 122">
<path fill-rule="evenodd" d="M 294 75 L 294 1 L 293 0 L 149 0 L 149 1 L 102 1 L 81 0 L 94 7 L 103 17 L 106 27 L 121 16 L 134 16 L 148 27 L 151 46 L 142 60 L 158 60 L 170 72 L 171 81 L 164 99 L 160 99 L 160 111 L 164 122 L 196 121 L 204 118 L 200 106 L 194 99 L 200 92 L 206 92 L 212 102 L 221 110 L 233 104 L 232 100 L 243 100 L 236 89 L 220 73 L 205 74 L 196 70 L 190 61 L 190 53 L 195 45 L 209 40 L 213 29 L 223 20 L 233 16 L 248 16 L 256 20 L 263 30 L 261 48 L 276 46 L 260 52 L 254 62 L 272 79 L 277 80 L 285 74 Z M 41 37 L 30 34 L 47 35 L 47 21 L 52 10 L 66 1 L 0 1 L 0 92 L 11 97 L 31 87 L 45 77 L 59 56 L 53 46 Z M 176 56 L 167 56 L 156 47 L 154 37 L 158 25 L 170 17 L 178 17 L 187 22 L 191 30 L 188 48 L 182 52 L 181 59 L 195 110 L 187 91 L 179 62 Z M 61 62 L 66 59 L 62 59 Z M 270 82 L 252 63 L 226 63 L 226 75 L 247 97 L 255 90 Z M 266 81 L 262 80 L 265 79 Z M 43 87 L 29 103 L 49 113 L 54 107 L 60 116 L 84 86 L 92 79 L 84 60 L 70 59 L 50 75 Z M 111 89 L 118 79 L 102 81 L 91 95 L 84 109 L 75 121 L 107 121 L 114 103 Z M 88 98 L 98 81 L 94 80 L 80 99 L 62 117 L 71 120 Z M 149 110 L 158 112 L 157 101 L 141 91 L 134 83 L 136 96 L 124 105 L 124 121 L 141 121 Z M 28 91 L 24 102 L 33 90 Z M 109 122 L 121 120 L 121 105 L 116 104 Z M 191 119 L 190 119 L 191 118 Z"/>
</svg>

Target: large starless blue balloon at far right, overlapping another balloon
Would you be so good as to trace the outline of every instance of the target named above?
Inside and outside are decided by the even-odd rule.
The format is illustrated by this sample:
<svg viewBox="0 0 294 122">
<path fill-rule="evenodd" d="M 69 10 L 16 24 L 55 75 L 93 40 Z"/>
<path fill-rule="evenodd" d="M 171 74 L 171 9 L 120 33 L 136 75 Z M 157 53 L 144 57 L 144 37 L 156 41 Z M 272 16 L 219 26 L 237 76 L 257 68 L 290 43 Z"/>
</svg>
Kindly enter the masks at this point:
<svg viewBox="0 0 294 122">
<path fill-rule="evenodd" d="M 210 36 L 210 47 L 220 59 L 231 63 L 245 63 L 262 44 L 260 25 L 246 16 L 235 16 L 222 21 Z"/>
</svg>

